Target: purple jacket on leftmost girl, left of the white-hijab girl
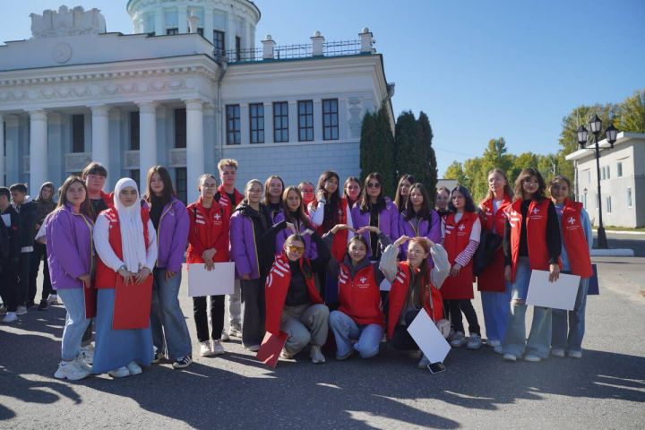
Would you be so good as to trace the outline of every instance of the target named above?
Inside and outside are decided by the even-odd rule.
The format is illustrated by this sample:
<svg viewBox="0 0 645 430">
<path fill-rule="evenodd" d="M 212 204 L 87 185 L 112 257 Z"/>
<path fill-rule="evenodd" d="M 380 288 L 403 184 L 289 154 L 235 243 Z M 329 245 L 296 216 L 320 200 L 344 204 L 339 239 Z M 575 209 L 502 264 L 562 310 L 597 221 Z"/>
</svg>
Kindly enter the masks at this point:
<svg viewBox="0 0 645 430">
<path fill-rule="evenodd" d="M 54 289 L 82 288 L 78 277 L 90 274 L 94 223 L 65 206 L 45 219 L 47 263 Z"/>
</svg>

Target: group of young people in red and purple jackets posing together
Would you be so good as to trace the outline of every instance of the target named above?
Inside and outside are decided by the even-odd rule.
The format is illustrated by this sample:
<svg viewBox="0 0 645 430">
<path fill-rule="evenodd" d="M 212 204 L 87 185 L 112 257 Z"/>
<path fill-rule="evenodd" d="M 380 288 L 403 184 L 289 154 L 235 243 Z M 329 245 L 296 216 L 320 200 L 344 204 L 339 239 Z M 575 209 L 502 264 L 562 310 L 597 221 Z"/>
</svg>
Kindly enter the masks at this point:
<svg viewBox="0 0 645 430">
<path fill-rule="evenodd" d="M 581 357 L 592 236 L 581 203 L 569 199 L 565 177 L 555 176 L 547 190 L 538 170 L 526 168 L 512 189 L 505 173 L 494 169 L 478 207 L 462 185 L 436 190 L 433 207 L 426 186 L 409 175 L 401 176 L 391 200 L 383 195 L 378 173 L 363 183 L 350 176 L 342 186 L 332 171 L 323 172 L 315 186 L 285 186 L 280 176 L 270 176 L 263 184 L 248 181 L 240 193 L 236 160 L 222 159 L 218 168 L 219 184 L 218 177 L 202 175 L 199 198 L 187 207 L 161 166 L 150 168 L 143 197 L 130 178 L 120 179 L 114 193 L 104 193 L 107 171 L 98 163 L 82 177 L 65 180 L 56 208 L 38 226 L 44 229 L 39 236 L 52 288 L 67 310 L 56 377 L 124 377 L 166 357 L 174 368 L 189 366 L 192 342 L 178 301 L 184 259 L 206 270 L 235 262 L 228 331 L 224 296 L 193 297 L 202 357 L 225 353 L 222 342 L 231 336 L 257 351 L 266 332 L 284 332 L 285 359 L 307 348 L 313 363 L 323 363 L 330 352 L 338 360 L 354 354 L 369 358 L 388 340 L 417 355 L 419 367 L 432 366 L 407 328 L 423 309 L 452 347 L 481 348 L 471 303 L 476 280 L 486 344 L 505 360 Z M 15 262 L 22 259 L 16 244 L 22 245 L 24 234 L 18 211 L 25 211 L 20 196 L 12 205 L 4 190 L 3 240 L 11 249 L 0 272 L 3 285 L 18 278 L 13 267 L 22 269 Z M 40 194 L 39 200 L 45 199 Z M 535 306 L 527 341 L 532 270 L 549 271 L 550 280 L 561 271 L 573 273 L 581 283 L 572 312 Z M 116 285 L 137 288 L 150 277 L 150 325 L 115 330 L 114 316 L 123 311 Z M 92 330 L 86 301 L 94 288 Z M 24 297 L 17 292 L 23 294 L 17 287 L 3 288 L 7 323 L 16 316 L 16 297 Z M 93 354 L 82 348 L 92 331 Z"/>
</svg>

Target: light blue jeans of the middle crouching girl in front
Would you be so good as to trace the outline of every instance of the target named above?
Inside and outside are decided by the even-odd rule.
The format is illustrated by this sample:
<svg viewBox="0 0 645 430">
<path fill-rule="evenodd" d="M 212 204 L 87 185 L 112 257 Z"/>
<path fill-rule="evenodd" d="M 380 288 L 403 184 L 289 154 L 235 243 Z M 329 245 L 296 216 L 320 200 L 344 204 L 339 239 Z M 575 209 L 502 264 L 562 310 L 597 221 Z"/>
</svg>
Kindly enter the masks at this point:
<svg viewBox="0 0 645 430">
<path fill-rule="evenodd" d="M 383 339 L 383 327 L 379 324 L 358 325 L 347 314 L 333 311 L 330 314 L 330 328 L 336 338 L 336 357 L 347 356 L 352 348 L 363 358 L 378 354 Z M 354 345 L 352 340 L 355 341 Z"/>
</svg>

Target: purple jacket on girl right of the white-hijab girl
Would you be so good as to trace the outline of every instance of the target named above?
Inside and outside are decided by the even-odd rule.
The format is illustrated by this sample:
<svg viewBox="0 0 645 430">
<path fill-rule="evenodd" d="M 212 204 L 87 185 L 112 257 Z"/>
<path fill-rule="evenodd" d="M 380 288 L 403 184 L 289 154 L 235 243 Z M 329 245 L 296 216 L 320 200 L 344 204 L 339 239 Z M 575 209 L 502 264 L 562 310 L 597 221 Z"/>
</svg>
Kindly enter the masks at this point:
<svg viewBox="0 0 645 430">
<path fill-rule="evenodd" d="M 157 267 L 168 271 L 181 271 L 188 245 L 190 219 L 185 204 L 173 197 L 161 211 L 157 229 Z"/>
</svg>

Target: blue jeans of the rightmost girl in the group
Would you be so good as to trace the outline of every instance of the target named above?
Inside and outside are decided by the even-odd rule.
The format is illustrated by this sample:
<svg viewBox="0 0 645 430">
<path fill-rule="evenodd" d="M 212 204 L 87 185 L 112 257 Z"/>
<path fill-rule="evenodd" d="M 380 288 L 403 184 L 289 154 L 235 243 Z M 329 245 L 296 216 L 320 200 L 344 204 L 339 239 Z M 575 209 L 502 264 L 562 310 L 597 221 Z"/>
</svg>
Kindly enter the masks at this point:
<svg viewBox="0 0 645 430">
<path fill-rule="evenodd" d="M 563 309 L 553 310 L 553 340 L 551 346 L 568 351 L 582 350 L 582 337 L 584 336 L 584 314 L 587 307 L 587 289 L 589 278 L 581 279 L 578 294 L 572 311 Z M 569 317 L 569 336 L 567 338 L 567 316 Z"/>
</svg>

